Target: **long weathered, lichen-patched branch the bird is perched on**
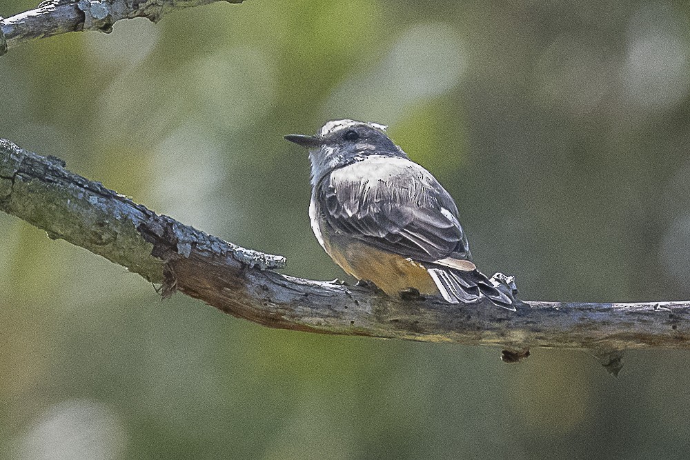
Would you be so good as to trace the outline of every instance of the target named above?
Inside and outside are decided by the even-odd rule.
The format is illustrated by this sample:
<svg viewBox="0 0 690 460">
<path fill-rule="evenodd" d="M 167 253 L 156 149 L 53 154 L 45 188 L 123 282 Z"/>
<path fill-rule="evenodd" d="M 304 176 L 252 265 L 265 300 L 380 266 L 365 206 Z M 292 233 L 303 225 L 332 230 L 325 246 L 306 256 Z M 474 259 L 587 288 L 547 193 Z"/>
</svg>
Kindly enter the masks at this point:
<svg viewBox="0 0 690 460">
<path fill-rule="evenodd" d="M 402 300 L 365 288 L 286 277 L 283 257 L 222 241 L 0 140 L 0 210 L 219 310 L 272 328 L 472 345 L 690 348 L 690 302 Z M 306 231 L 306 230 L 305 230 Z"/>
</svg>

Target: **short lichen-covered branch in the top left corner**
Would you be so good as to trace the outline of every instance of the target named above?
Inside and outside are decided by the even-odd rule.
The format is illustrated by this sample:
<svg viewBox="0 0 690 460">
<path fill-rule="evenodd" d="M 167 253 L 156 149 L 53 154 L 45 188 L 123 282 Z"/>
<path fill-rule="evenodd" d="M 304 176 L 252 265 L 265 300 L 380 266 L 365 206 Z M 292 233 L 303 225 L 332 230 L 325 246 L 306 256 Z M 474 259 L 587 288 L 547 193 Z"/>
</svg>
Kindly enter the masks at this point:
<svg viewBox="0 0 690 460">
<path fill-rule="evenodd" d="M 0 17 L 0 56 L 21 43 L 66 32 L 111 32 L 120 19 L 146 17 L 158 22 L 167 12 L 216 1 L 243 0 L 47 0 L 37 8 Z"/>
</svg>

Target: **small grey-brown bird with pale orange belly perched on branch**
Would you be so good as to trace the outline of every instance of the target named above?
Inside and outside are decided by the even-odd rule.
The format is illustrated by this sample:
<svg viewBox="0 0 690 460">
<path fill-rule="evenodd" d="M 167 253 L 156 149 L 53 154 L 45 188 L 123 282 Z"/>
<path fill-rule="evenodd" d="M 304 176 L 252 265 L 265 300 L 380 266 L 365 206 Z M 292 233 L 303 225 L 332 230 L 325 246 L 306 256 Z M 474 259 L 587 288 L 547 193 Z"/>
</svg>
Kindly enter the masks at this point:
<svg viewBox="0 0 690 460">
<path fill-rule="evenodd" d="M 328 121 L 315 136 L 288 134 L 311 161 L 311 228 L 346 273 L 389 296 L 440 295 L 448 303 L 514 299 L 472 261 L 451 194 L 379 123 Z"/>
</svg>

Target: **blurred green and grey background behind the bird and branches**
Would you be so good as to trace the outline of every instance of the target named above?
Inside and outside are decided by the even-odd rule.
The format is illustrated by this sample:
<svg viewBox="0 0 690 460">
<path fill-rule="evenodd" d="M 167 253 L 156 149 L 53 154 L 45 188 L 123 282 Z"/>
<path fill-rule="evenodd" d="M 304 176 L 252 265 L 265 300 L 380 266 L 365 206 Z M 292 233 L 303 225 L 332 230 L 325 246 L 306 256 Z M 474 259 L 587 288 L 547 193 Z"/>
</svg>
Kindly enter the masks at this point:
<svg viewBox="0 0 690 460">
<path fill-rule="evenodd" d="M 37 1 L 37 0 L 36 0 Z M 0 14 L 35 6 L 3 0 Z M 687 299 L 687 2 L 217 3 L 0 58 L 0 137 L 219 237 L 344 277 L 309 228 L 327 119 L 390 125 L 522 297 Z M 682 458 L 684 351 L 270 330 L 0 215 L 0 457 Z"/>
</svg>

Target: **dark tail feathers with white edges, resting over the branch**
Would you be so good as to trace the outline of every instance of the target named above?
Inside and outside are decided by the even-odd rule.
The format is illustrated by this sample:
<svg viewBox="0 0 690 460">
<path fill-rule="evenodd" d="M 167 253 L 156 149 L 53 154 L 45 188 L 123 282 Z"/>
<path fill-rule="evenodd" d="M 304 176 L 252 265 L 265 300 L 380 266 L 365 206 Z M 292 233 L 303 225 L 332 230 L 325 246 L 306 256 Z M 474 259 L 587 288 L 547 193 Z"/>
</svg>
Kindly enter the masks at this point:
<svg viewBox="0 0 690 460">
<path fill-rule="evenodd" d="M 479 270 L 455 270 L 453 268 L 431 267 L 428 274 L 446 301 L 450 303 L 473 303 L 487 297 L 497 306 L 515 310 L 513 299 L 493 286 L 493 283 Z"/>
</svg>

